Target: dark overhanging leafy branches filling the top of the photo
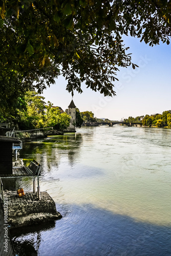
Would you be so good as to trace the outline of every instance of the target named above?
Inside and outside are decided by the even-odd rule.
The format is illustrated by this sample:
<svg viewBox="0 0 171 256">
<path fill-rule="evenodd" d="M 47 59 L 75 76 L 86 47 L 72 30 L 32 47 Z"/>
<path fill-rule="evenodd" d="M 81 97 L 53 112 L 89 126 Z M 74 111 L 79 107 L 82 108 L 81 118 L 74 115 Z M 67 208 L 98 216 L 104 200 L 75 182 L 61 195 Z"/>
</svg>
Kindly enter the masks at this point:
<svg viewBox="0 0 171 256">
<path fill-rule="evenodd" d="M 59 75 L 72 94 L 85 82 L 115 95 L 119 67 L 136 67 L 122 35 L 169 44 L 170 13 L 167 0 L 1 0 L 0 107 L 29 89 L 41 92 Z"/>
</svg>

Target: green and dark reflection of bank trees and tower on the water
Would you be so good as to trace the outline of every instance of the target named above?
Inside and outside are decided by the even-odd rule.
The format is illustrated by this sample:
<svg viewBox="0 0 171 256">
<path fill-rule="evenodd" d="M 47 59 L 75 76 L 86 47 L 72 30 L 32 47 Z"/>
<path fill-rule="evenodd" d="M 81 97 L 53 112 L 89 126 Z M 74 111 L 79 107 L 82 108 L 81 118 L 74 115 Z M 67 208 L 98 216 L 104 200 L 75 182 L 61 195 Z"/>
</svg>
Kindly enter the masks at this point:
<svg viewBox="0 0 171 256">
<path fill-rule="evenodd" d="M 81 134 L 73 133 L 48 137 L 36 142 L 24 143 L 23 150 L 20 151 L 20 157 L 25 159 L 25 163 L 28 163 L 33 158 L 42 163 L 43 174 L 44 169 L 46 169 L 46 172 L 51 172 L 53 166 L 58 168 L 63 155 L 66 158 L 66 154 L 70 166 L 73 166 L 79 158 L 81 143 Z"/>
</svg>

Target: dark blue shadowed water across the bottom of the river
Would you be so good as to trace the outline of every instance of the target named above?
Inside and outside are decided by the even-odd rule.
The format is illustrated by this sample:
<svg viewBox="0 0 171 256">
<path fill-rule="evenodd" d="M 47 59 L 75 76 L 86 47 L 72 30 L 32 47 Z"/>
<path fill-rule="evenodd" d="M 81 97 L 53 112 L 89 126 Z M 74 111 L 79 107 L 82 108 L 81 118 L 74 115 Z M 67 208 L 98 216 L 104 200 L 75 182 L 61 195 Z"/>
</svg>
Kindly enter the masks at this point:
<svg viewBox="0 0 171 256">
<path fill-rule="evenodd" d="M 62 214 L 62 205 L 58 207 Z M 32 255 L 27 254 L 30 246 L 31 252 L 40 256 L 171 255 L 171 227 L 136 222 L 92 205 L 68 207 L 71 209 L 68 215 L 56 221 L 55 226 L 49 229 L 41 226 L 36 232 L 30 230 L 29 236 L 34 236 L 32 244 L 28 234 L 13 236 L 15 243 L 22 240 L 23 256 Z"/>
</svg>

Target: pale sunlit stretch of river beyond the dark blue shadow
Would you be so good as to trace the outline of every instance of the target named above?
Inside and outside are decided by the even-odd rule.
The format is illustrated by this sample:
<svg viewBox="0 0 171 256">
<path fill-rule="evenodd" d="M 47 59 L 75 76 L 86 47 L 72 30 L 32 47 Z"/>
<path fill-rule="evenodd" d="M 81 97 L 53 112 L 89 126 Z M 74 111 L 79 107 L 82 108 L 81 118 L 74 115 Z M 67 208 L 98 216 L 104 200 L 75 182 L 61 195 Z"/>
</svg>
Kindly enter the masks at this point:
<svg viewBox="0 0 171 256">
<path fill-rule="evenodd" d="M 81 133 L 91 131 L 88 129 Z M 60 189 L 70 204 L 91 203 L 137 221 L 170 225 L 171 143 L 169 137 L 166 143 L 160 141 L 163 130 L 155 134 L 157 137 L 153 134 L 156 130 L 151 130 L 147 133 L 134 127 L 95 127 L 92 134 L 84 135 L 81 148 L 71 140 L 70 150 L 76 151 L 74 160 L 71 152 L 62 152 L 59 166 L 52 167 L 48 174 L 48 180 L 53 177 L 60 181 L 51 182 L 48 193 L 60 203 Z M 170 136 L 170 131 L 165 135 Z M 47 189 L 46 179 L 41 187 Z"/>
</svg>

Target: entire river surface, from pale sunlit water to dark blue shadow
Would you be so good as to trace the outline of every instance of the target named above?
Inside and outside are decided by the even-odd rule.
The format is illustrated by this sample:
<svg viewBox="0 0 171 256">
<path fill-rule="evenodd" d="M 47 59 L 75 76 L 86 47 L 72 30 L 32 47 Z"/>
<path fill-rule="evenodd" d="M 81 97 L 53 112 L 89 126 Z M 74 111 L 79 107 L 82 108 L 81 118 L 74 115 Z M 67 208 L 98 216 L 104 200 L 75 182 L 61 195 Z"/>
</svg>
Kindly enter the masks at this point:
<svg viewBox="0 0 171 256">
<path fill-rule="evenodd" d="M 170 138 L 115 125 L 24 143 L 20 157 L 41 164 L 40 189 L 63 218 L 14 229 L 19 255 L 171 255 Z M 32 191 L 31 178 L 9 184 Z"/>
</svg>

